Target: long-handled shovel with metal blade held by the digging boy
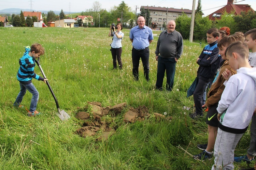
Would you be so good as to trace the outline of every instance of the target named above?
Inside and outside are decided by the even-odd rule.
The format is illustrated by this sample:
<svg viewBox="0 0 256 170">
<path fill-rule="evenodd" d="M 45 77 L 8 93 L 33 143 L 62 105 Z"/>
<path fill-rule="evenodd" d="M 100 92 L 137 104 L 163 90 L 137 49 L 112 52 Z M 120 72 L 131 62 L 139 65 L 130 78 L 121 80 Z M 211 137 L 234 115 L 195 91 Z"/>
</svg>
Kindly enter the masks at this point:
<svg viewBox="0 0 256 170">
<path fill-rule="evenodd" d="M 44 74 L 44 71 L 43 71 L 43 69 L 42 69 L 42 67 L 41 67 L 41 65 L 40 65 L 40 63 L 39 63 L 39 58 L 38 58 L 38 60 L 35 60 L 35 63 L 37 63 L 38 67 L 40 68 L 40 71 L 42 72 L 42 75 L 43 75 L 44 78 L 46 79 L 46 76 L 45 76 L 45 74 Z M 56 114 L 58 115 L 58 117 L 59 117 L 62 121 L 65 121 L 65 120 L 69 119 L 69 118 L 70 118 L 70 115 L 68 115 L 68 113 L 66 113 L 64 110 L 61 110 L 61 111 L 60 111 L 60 109 L 59 109 L 59 103 L 58 103 L 58 101 L 57 101 L 56 96 L 55 96 L 54 93 L 53 93 L 53 90 L 52 90 L 52 88 L 51 88 L 49 82 L 46 81 L 46 84 L 47 84 L 48 88 L 50 89 L 50 91 L 51 91 L 51 93 L 52 93 L 52 95 L 53 95 L 53 98 L 54 98 L 54 100 L 55 100 L 55 103 L 56 103 L 56 106 L 57 106 L 57 109 L 58 109 L 58 113 L 56 113 Z"/>
</svg>

